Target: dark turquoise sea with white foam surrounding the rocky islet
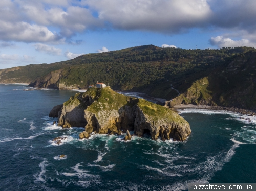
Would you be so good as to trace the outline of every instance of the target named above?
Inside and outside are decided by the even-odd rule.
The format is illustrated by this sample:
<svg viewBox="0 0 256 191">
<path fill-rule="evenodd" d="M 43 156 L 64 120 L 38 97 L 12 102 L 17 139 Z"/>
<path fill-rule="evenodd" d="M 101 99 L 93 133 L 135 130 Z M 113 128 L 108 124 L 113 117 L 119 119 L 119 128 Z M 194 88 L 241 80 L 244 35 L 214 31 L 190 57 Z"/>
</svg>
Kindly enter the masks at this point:
<svg viewBox="0 0 256 191">
<path fill-rule="evenodd" d="M 187 190 L 188 183 L 256 183 L 256 118 L 182 110 L 184 142 L 92 135 L 52 125 L 75 91 L 0 84 L 0 190 Z M 250 118 L 251 121 L 243 120 Z M 67 137 L 62 144 L 52 141 Z M 59 155 L 66 155 L 60 158 Z"/>
</svg>

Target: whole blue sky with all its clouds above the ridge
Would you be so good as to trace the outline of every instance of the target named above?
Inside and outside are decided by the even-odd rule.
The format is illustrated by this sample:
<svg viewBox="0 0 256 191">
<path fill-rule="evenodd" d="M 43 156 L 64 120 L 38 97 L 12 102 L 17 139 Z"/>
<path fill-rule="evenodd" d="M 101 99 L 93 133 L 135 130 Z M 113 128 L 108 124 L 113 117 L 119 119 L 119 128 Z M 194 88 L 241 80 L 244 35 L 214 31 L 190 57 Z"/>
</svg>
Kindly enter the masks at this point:
<svg viewBox="0 0 256 191">
<path fill-rule="evenodd" d="M 255 0 L 1 0 L 0 69 L 153 44 L 256 47 Z"/>
</svg>

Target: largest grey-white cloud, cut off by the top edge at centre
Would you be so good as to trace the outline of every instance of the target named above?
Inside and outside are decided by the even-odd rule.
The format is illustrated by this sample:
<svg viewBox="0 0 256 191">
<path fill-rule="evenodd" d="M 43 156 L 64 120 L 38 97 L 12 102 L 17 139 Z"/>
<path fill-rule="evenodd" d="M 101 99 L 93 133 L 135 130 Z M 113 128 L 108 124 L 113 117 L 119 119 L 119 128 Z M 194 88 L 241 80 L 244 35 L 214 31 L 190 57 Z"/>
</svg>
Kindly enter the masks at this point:
<svg viewBox="0 0 256 191">
<path fill-rule="evenodd" d="M 179 32 L 207 24 L 212 11 L 206 0 L 83 0 L 114 28 Z"/>
</svg>

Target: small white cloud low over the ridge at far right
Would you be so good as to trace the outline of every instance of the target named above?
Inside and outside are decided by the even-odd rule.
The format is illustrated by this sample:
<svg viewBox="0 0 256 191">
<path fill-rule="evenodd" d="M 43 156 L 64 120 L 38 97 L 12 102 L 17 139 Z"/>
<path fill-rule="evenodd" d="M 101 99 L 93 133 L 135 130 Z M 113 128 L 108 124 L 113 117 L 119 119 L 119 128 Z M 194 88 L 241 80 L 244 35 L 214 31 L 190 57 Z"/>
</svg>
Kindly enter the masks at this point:
<svg viewBox="0 0 256 191">
<path fill-rule="evenodd" d="M 236 46 L 249 46 L 256 47 L 256 43 L 251 42 L 248 39 L 232 40 L 223 36 L 212 37 L 210 39 L 211 45 L 217 45 L 218 47 L 236 47 Z"/>
</svg>

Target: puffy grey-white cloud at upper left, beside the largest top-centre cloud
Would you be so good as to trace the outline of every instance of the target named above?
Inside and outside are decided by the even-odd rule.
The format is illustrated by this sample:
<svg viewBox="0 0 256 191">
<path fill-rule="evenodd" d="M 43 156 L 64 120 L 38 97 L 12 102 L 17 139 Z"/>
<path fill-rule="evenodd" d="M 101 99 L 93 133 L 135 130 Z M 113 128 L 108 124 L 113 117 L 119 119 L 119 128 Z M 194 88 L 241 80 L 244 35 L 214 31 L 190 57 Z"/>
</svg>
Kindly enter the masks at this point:
<svg viewBox="0 0 256 191">
<path fill-rule="evenodd" d="M 67 6 L 65 10 L 59 7 L 45 9 L 42 5 L 24 5 L 23 8 L 30 20 L 40 25 L 58 27 L 66 37 L 86 29 L 104 27 L 103 21 L 94 18 L 91 10 L 79 6 Z"/>
</svg>

